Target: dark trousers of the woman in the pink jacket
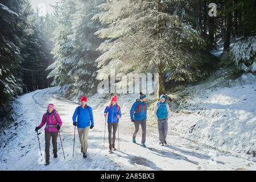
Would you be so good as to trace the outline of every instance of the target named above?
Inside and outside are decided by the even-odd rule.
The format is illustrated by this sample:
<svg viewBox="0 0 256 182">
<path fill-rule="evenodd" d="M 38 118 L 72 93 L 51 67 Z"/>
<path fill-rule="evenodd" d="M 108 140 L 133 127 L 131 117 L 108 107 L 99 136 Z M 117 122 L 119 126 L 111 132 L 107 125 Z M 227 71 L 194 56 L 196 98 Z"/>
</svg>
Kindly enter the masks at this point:
<svg viewBox="0 0 256 182">
<path fill-rule="evenodd" d="M 45 138 L 46 138 L 46 162 L 49 162 L 49 146 L 50 146 L 50 141 L 52 137 L 52 146 L 53 146 L 53 154 L 57 154 L 57 137 L 58 137 L 58 132 L 47 132 L 45 131 Z"/>
</svg>

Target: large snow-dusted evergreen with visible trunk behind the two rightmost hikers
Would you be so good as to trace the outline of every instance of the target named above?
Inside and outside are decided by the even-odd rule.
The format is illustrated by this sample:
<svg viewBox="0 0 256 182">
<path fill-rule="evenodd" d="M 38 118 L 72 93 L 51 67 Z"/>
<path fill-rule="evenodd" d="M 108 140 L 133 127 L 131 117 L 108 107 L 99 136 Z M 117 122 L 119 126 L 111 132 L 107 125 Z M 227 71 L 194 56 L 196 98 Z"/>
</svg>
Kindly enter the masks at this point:
<svg viewBox="0 0 256 182">
<path fill-rule="evenodd" d="M 96 32 L 109 38 L 98 48 L 97 78 L 103 80 L 114 68 L 115 73 L 159 73 L 158 94 L 165 93 L 164 81 L 195 81 L 205 75 L 197 56 L 205 42 L 191 23 L 170 12 L 170 1 L 109 1 L 99 6 L 94 16 L 109 24 Z M 166 73 L 170 73 L 167 78 Z"/>
</svg>

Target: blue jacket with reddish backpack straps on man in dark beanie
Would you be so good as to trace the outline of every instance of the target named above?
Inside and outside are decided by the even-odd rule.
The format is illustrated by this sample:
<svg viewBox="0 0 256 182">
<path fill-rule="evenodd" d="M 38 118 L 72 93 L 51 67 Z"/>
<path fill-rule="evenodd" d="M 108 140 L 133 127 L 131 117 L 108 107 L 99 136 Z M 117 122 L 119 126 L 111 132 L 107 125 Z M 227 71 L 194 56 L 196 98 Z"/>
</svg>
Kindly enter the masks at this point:
<svg viewBox="0 0 256 182">
<path fill-rule="evenodd" d="M 138 109 L 138 104 L 141 105 L 141 109 L 138 113 L 136 113 L 135 111 Z M 143 108 L 143 105 L 145 109 Z M 136 121 L 142 121 L 143 119 L 147 119 L 147 103 L 142 102 L 141 100 L 136 100 L 133 106 L 131 106 L 130 117 L 131 119 L 134 119 Z"/>
</svg>

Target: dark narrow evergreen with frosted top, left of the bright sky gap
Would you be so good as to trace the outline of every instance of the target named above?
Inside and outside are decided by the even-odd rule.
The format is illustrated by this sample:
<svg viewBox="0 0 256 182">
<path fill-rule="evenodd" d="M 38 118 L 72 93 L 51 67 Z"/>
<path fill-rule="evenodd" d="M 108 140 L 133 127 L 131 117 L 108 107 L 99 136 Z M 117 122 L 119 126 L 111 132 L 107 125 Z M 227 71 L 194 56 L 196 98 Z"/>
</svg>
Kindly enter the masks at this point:
<svg viewBox="0 0 256 182">
<path fill-rule="evenodd" d="M 42 30 L 39 25 L 39 17 L 31 8 L 30 3 L 24 2 L 20 10 L 23 18 L 23 44 L 21 55 L 23 57 L 22 69 L 23 92 L 31 92 L 36 89 L 46 88 L 46 51 L 42 38 Z"/>
</svg>

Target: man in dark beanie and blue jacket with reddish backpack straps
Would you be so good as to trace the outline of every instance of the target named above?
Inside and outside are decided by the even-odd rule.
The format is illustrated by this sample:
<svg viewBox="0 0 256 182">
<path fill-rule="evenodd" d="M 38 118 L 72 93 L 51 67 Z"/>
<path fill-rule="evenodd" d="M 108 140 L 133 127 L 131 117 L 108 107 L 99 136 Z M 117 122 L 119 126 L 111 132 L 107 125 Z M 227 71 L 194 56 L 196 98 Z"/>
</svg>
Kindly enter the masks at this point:
<svg viewBox="0 0 256 182">
<path fill-rule="evenodd" d="M 146 147 L 146 120 L 147 120 L 147 103 L 146 101 L 146 95 L 142 92 L 139 93 L 139 99 L 137 99 L 133 106 L 131 106 L 130 110 L 130 117 L 131 121 L 134 122 L 135 125 L 135 131 L 133 134 L 133 142 L 136 143 L 136 135 L 139 131 L 139 125 L 141 125 L 142 128 L 142 147 Z"/>
</svg>

